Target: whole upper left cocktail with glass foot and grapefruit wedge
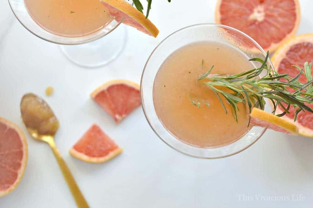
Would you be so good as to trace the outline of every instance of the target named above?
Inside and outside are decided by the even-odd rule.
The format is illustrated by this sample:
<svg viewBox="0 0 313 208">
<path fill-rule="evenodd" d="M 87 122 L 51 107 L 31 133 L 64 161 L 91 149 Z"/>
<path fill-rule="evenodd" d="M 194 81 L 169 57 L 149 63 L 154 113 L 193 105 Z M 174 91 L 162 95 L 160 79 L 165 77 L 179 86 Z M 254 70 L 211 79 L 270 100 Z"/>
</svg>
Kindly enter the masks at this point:
<svg viewBox="0 0 313 208">
<path fill-rule="evenodd" d="M 121 23 L 153 37 L 159 33 L 156 26 L 129 0 L 8 2 L 16 18 L 28 31 L 46 41 L 61 44 L 64 55 L 84 67 L 99 67 L 117 58 L 127 37 L 125 27 L 117 28 Z"/>
</svg>

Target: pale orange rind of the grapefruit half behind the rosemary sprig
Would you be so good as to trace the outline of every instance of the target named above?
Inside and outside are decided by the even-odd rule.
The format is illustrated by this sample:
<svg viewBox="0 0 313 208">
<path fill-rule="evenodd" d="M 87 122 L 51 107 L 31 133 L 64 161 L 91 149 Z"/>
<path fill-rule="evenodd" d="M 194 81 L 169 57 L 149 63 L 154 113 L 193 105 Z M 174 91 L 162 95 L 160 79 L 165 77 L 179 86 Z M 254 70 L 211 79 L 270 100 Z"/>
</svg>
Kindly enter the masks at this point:
<svg viewBox="0 0 313 208">
<path fill-rule="evenodd" d="M 290 50 L 290 48 L 293 45 L 298 44 L 298 43 L 303 43 L 303 42 L 313 43 L 313 33 L 297 35 L 297 36 L 290 38 L 289 40 L 285 41 L 284 43 L 282 43 L 282 45 L 277 49 L 277 51 L 274 53 L 274 55 L 271 58 L 274 69 L 276 70 L 279 67 L 280 62 L 285 58 L 286 53 Z M 277 114 L 280 114 L 282 112 L 283 112 L 282 109 L 280 109 L 280 108 L 276 109 Z M 303 125 L 301 125 L 298 121 L 294 121 L 293 119 L 288 118 L 286 116 L 284 116 L 283 118 L 286 121 L 294 123 L 296 126 L 298 126 L 299 134 L 301 136 L 311 137 L 311 138 L 313 137 L 313 130 L 312 129 L 306 128 Z"/>
</svg>

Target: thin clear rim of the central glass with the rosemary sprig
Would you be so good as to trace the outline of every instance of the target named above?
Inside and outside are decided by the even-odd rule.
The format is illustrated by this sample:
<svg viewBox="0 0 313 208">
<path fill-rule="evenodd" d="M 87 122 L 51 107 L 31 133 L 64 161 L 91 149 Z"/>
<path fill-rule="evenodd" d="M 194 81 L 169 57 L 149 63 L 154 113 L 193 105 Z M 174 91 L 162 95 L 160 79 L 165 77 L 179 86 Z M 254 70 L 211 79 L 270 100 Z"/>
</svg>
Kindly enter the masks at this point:
<svg viewBox="0 0 313 208">
<path fill-rule="evenodd" d="M 151 57 L 153 56 L 153 54 L 156 52 L 156 50 L 157 50 L 167 39 L 171 38 L 172 36 L 176 35 L 177 33 L 180 33 L 180 32 L 182 32 L 183 30 L 186 30 L 186 29 L 189 29 L 189 28 L 199 27 L 199 26 L 200 26 L 200 27 L 201 27 L 201 26 L 212 26 L 212 27 L 225 28 L 225 29 L 228 29 L 228 30 L 235 31 L 235 32 L 237 32 L 237 33 L 243 35 L 245 38 L 248 38 L 249 41 L 251 41 L 251 42 L 256 46 L 256 48 L 260 50 L 260 53 L 262 53 L 262 55 L 266 56 L 266 53 L 265 53 L 264 49 L 259 45 L 259 43 L 257 43 L 253 38 L 251 38 L 251 37 L 250 37 L 249 35 L 247 35 L 246 33 L 242 32 L 242 31 L 240 31 L 240 30 L 238 30 L 238 29 L 236 29 L 236 28 L 232 28 L 232 27 L 229 27 L 229 26 L 226 26 L 226 25 L 216 24 L 216 23 L 200 23 L 200 24 L 193 24 L 193 25 L 190 25 L 190 26 L 181 28 L 181 29 L 179 29 L 179 30 L 177 30 L 177 31 L 175 31 L 175 32 L 173 32 L 173 33 L 171 33 L 171 34 L 168 35 L 166 38 L 164 38 L 164 39 L 153 49 L 153 51 L 151 52 L 150 56 L 148 57 L 148 59 L 147 59 L 147 61 L 146 61 L 146 64 L 145 64 L 145 66 L 144 66 L 142 75 L 141 75 L 141 84 L 140 84 L 141 104 L 142 104 L 142 109 L 143 109 L 144 115 L 145 115 L 146 120 L 147 120 L 148 124 L 150 125 L 151 129 L 154 131 L 154 133 L 155 133 L 165 144 L 167 144 L 167 145 L 168 145 L 169 147 L 171 147 L 172 149 L 174 149 L 174 150 L 176 150 L 176 151 L 178 151 L 178 152 L 180 152 L 180 153 L 182 153 L 182 154 L 184 154 L 184 155 L 188 155 L 188 156 L 191 156 L 191 157 L 194 157 L 194 158 L 201 158 L 201 159 L 219 159 L 219 158 L 225 158 L 225 157 L 229 157 L 229 156 L 232 156 L 232 155 L 236 155 L 236 154 L 238 154 L 238 153 L 240 153 L 240 152 L 246 150 L 246 149 L 249 148 L 250 146 L 252 146 L 252 145 L 253 145 L 256 141 L 258 141 L 259 138 L 265 133 L 265 131 L 268 129 L 268 127 L 263 128 L 263 130 L 262 130 L 262 132 L 259 134 L 259 136 L 258 136 L 253 142 L 251 142 L 249 145 L 247 145 L 247 146 L 245 146 L 244 148 L 242 148 L 242 149 L 240 149 L 240 150 L 238 150 L 238 151 L 235 151 L 235 152 L 233 152 L 233 153 L 231 153 L 231 154 L 223 155 L 223 156 L 217 156 L 217 157 L 203 157 L 203 156 L 199 156 L 199 155 L 191 155 L 191 154 L 188 154 L 188 153 L 186 153 L 186 152 L 184 152 L 184 151 L 182 151 L 182 150 L 179 150 L 179 149 L 177 149 L 176 147 L 170 145 L 165 139 L 162 138 L 162 136 L 157 132 L 156 128 L 155 128 L 155 127 L 153 126 L 153 124 L 151 123 L 151 120 L 150 120 L 150 118 L 149 118 L 149 116 L 148 116 L 148 112 L 147 112 L 146 106 L 145 106 L 146 101 L 145 101 L 144 98 L 143 98 L 143 97 L 144 97 L 144 96 L 143 96 L 143 88 L 144 88 L 144 87 L 143 87 L 143 80 L 144 80 L 144 78 L 145 78 L 144 74 L 145 74 L 145 72 L 146 72 L 146 70 L 147 70 L 147 65 L 148 65 L 148 63 L 149 63 L 149 60 L 151 59 Z M 173 52 L 174 52 L 174 51 L 173 51 Z M 268 59 L 268 62 L 269 62 L 269 64 L 270 64 L 270 66 L 271 66 L 272 68 L 274 68 L 274 67 L 273 67 L 273 64 L 272 64 L 272 62 L 271 62 L 270 59 Z M 153 80 L 153 82 L 154 82 L 154 80 Z M 153 103 L 153 101 L 152 101 L 152 103 Z M 154 104 L 153 104 L 153 105 L 154 105 Z M 159 118 L 157 118 L 157 119 L 159 119 Z M 160 121 L 160 122 L 161 122 L 161 121 Z M 161 124 L 162 124 L 162 122 L 161 122 Z M 163 124 L 162 124 L 162 126 L 163 126 Z M 164 129 L 165 131 L 167 131 L 169 134 L 171 134 L 172 137 L 175 137 L 175 136 L 174 136 L 169 130 L 167 130 L 164 126 L 163 126 L 163 129 Z M 251 131 L 251 129 L 250 129 L 249 131 Z M 245 133 L 244 135 L 248 134 L 249 131 L 248 131 L 247 133 Z M 234 141 L 234 142 L 232 142 L 232 143 L 230 143 L 230 144 L 227 144 L 227 145 L 231 145 L 231 144 L 233 144 L 233 143 L 235 143 L 235 142 L 241 140 L 243 137 L 244 137 L 244 136 L 242 136 L 242 137 L 239 138 L 238 140 L 236 140 L 236 141 Z M 175 139 L 178 140 L 176 137 L 175 137 Z M 185 142 L 183 142 L 183 141 L 181 141 L 181 140 L 178 140 L 178 141 L 181 142 L 182 144 L 188 145 L 187 143 L 185 143 Z M 227 145 L 223 145 L 223 146 L 220 146 L 220 147 L 225 147 L 225 146 L 227 146 Z M 189 146 L 190 146 L 190 147 L 193 147 L 193 148 L 199 148 L 199 149 L 202 149 L 202 150 L 209 150 L 209 149 L 219 148 L 219 147 L 201 148 L 201 147 L 195 147 L 195 146 L 192 146 L 192 145 L 189 145 Z"/>
</svg>

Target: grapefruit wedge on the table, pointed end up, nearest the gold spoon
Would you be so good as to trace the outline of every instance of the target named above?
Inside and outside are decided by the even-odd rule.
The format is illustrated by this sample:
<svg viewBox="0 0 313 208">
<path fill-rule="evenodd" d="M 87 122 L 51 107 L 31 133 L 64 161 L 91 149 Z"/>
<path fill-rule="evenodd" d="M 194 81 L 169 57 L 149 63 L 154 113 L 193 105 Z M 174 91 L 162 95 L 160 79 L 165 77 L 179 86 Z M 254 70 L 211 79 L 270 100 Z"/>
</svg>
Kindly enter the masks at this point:
<svg viewBox="0 0 313 208">
<path fill-rule="evenodd" d="M 96 124 L 69 150 L 72 156 L 90 163 L 108 161 L 121 152 L 122 149 Z"/>
</svg>

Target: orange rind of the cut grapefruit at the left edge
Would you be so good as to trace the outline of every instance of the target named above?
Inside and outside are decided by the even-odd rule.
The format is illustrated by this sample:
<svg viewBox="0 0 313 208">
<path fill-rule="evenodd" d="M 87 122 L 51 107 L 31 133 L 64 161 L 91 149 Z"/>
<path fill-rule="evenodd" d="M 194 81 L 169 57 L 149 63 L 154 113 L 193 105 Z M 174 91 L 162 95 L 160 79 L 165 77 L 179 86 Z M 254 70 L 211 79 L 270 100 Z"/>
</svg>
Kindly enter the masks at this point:
<svg viewBox="0 0 313 208">
<path fill-rule="evenodd" d="M 19 185 L 19 183 L 21 182 L 25 169 L 26 169 L 26 165 L 27 165 L 27 159 L 28 159 L 28 145 L 27 145 L 27 140 L 22 132 L 22 130 L 15 124 L 13 124 L 11 121 L 1 118 L 0 117 L 0 123 L 4 123 L 6 125 L 8 125 L 8 127 L 15 129 L 22 141 L 23 144 L 23 159 L 21 161 L 21 168 L 18 170 L 18 177 L 16 179 L 16 181 L 11 185 L 10 188 L 8 188 L 5 191 L 0 191 L 0 197 L 5 196 L 9 193 L 11 193 L 14 189 L 16 189 Z M 0 163 L 1 165 L 1 163 Z"/>
</svg>

